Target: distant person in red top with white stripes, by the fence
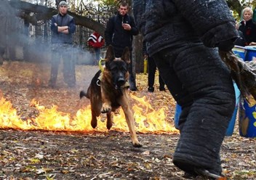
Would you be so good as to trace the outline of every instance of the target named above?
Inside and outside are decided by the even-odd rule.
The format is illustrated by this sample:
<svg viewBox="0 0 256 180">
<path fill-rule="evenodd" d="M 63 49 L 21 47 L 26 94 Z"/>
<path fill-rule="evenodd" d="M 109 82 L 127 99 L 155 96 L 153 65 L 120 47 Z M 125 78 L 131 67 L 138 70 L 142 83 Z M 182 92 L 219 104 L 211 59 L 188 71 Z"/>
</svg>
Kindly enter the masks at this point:
<svg viewBox="0 0 256 180">
<path fill-rule="evenodd" d="M 88 38 L 88 45 L 95 51 L 95 65 L 97 65 L 100 60 L 100 48 L 104 45 L 104 43 L 103 36 L 100 36 L 100 34 L 96 31 L 93 32 Z"/>
</svg>

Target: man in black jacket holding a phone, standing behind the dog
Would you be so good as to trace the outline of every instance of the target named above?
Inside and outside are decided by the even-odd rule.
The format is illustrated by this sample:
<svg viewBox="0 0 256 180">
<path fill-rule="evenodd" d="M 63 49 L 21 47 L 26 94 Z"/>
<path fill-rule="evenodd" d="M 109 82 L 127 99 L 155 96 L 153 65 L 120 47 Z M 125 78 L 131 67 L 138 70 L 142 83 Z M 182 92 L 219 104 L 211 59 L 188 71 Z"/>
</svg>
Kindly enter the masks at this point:
<svg viewBox="0 0 256 180">
<path fill-rule="evenodd" d="M 108 20 L 105 29 L 105 43 L 112 45 L 116 57 L 121 57 L 124 48 L 129 47 L 131 63 L 129 64 L 129 89 L 136 91 L 135 75 L 132 71 L 132 37 L 139 33 L 135 20 L 132 16 L 127 15 L 128 4 L 121 2 L 119 5 L 118 15 L 114 15 Z"/>
</svg>

